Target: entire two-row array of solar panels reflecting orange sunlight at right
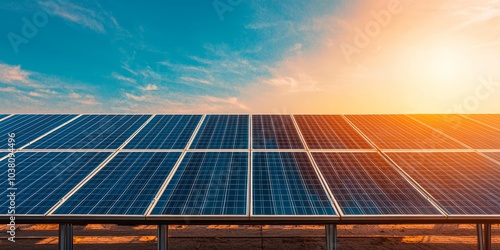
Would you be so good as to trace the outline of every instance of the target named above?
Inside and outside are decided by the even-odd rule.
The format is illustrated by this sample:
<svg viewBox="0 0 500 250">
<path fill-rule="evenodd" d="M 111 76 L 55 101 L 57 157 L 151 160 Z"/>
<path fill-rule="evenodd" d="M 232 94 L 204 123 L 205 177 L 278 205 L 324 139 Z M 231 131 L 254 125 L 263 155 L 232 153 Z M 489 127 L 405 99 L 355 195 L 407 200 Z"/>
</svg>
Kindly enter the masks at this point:
<svg viewBox="0 0 500 250">
<path fill-rule="evenodd" d="M 15 165 L 15 178 L 5 167 L 1 182 L 16 188 L 16 218 L 32 221 L 500 221 L 499 121 L 0 115 L 0 165 Z M 15 160 L 6 152 L 8 133 L 16 134 Z"/>
</svg>

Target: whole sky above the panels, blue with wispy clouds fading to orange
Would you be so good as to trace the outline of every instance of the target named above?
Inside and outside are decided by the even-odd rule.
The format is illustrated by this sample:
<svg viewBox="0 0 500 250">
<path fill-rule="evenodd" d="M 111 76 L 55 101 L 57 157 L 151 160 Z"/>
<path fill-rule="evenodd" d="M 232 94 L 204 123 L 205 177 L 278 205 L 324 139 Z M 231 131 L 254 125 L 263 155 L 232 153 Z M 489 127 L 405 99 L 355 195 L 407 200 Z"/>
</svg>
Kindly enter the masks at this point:
<svg viewBox="0 0 500 250">
<path fill-rule="evenodd" d="M 489 64 L 462 77 L 469 84 L 462 84 L 453 95 L 446 93 L 456 86 L 415 91 L 405 85 L 407 79 L 379 68 L 394 67 L 387 57 L 403 44 L 393 46 L 391 36 L 409 39 L 418 30 L 409 17 L 403 17 L 443 16 L 437 11 L 443 12 L 443 6 L 431 1 L 398 1 L 406 12 L 394 14 L 390 26 L 354 62 L 346 60 L 342 46 L 356 35 L 355 28 L 363 28 L 373 19 L 371 11 L 385 11 L 391 1 L 4 0 L 0 3 L 1 110 L 443 113 L 473 94 L 481 77 L 495 85 L 494 67 Z M 456 23 L 442 23 L 457 29 L 457 34 L 471 25 L 498 21 L 500 12 L 491 11 L 499 9 L 498 1 L 450 3 L 444 14 Z M 485 6 L 490 10 L 476 13 Z M 422 14 L 421 9 L 427 12 Z M 458 10 L 476 11 L 477 17 L 455 20 L 460 17 Z M 435 34 L 422 36 L 437 39 Z M 494 38 L 482 42 L 493 45 L 484 54 L 498 49 L 496 41 L 488 39 Z M 364 78 L 374 74 L 384 77 Z M 378 87 L 372 91 L 368 85 Z M 392 91 L 381 96 L 380 89 L 387 88 Z M 410 92 L 413 99 L 408 98 Z M 497 110 L 493 100 L 498 98 L 493 96 L 498 93 L 490 92 L 491 97 L 481 100 L 481 108 L 469 111 Z M 433 105 L 426 106 L 429 98 Z"/>
</svg>

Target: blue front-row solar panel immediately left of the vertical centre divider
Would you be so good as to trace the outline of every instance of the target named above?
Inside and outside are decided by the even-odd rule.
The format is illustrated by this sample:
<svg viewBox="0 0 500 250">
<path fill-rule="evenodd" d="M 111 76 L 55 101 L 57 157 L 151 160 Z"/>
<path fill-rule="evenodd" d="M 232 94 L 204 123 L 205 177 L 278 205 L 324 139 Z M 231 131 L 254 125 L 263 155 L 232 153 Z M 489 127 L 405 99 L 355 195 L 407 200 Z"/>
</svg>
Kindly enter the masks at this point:
<svg viewBox="0 0 500 250">
<path fill-rule="evenodd" d="M 188 152 L 153 215 L 245 215 L 248 153 Z"/>
</svg>

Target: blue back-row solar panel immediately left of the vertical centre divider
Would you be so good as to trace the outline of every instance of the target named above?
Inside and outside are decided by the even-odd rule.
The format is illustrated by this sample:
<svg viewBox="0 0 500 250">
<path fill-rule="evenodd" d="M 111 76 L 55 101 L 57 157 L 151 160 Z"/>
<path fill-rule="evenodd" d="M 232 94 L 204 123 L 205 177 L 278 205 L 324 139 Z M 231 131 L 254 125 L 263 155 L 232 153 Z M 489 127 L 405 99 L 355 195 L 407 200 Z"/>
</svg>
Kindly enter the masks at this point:
<svg viewBox="0 0 500 250">
<path fill-rule="evenodd" d="M 207 115 L 192 149 L 248 149 L 248 115 Z"/>
</svg>

